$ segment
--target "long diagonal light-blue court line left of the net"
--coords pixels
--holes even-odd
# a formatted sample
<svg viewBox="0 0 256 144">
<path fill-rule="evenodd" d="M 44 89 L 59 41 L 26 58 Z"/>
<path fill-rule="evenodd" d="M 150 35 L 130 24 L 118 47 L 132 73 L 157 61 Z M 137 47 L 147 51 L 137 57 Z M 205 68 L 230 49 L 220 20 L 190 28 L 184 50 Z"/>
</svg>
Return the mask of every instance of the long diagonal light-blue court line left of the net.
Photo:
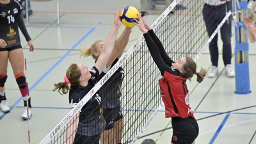
<svg viewBox="0 0 256 144">
<path fill-rule="evenodd" d="M 90 35 L 90 33 L 92 33 L 92 31 L 94 31 L 95 28 L 92 28 L 88 33 L 86 33 L 86 35 L 83 36 L 83 38 L 81 38 L 71 49 L 75 49 L 77 47 L 77 45 L 79 45 L 81 42 L 83 42 L 84 38 L 86 38 L 88 35 Z M 45 74 L 40 77 L 40 79 L 38 79 L 38 81 L 36 81 L 35 84 L 33 84 L 30 88 L 29 88 L 29 92 L 31 92 L 31 90 L 33 90 L 35 88 L 35 86 L 37 84 L 39 84 L 57 65 L 60 64 L 61 61 L 64 60 L 64 58 L 66 58 L 68 56 L 68 54 L 70 54 L 71 51 L 67 51 L 66 54 L 64 54 L 64 56 L 62 56 L 60 58 L 60 60 L 58 60 L 49 70 L 47 70 L 47 72 L 45 72 Z M 22 100 L 22 97 L 20 97 L 10 108 L 12 111 L 12 108 L 14 108 L 15 106 L 17 106 L 17 104 L 19 104 L 20 100 Z M 0 120 L 2 118 L 4 118 L 4 116 L 6 116 L 8 113 L 3 113 L 3 115 L 0 116 Z"/>
</svg>

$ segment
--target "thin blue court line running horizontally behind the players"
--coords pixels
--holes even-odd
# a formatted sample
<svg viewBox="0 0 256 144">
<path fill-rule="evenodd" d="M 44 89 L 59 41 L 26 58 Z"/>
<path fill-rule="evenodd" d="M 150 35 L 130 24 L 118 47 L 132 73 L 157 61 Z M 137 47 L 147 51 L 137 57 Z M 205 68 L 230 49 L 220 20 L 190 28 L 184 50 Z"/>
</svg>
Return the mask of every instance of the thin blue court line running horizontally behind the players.
<svg viewBox="0 0 256 144">
<path fill-rule="evenodd" d="M 24 108 L 24 106 L 16 106 L 16 108 Z M 42 106 L 33 106 L 33 109 L 70 109 L 64 107 L 42 107 Z M 133 110 L 133 109 L 123 109 L 123 111 L 141 111 L 141 110 Z M 152 111 L 152 110 L 145 110 L 145 111 Z M 165 112 L 160 110 L 159 112 Z M 212 111 L 194 111 L 194 113 L 221 113 L 221 112 L 212 112 Z M 256 115 L 256 113 L 232 113 L 235 115 Z"/>
</svg>

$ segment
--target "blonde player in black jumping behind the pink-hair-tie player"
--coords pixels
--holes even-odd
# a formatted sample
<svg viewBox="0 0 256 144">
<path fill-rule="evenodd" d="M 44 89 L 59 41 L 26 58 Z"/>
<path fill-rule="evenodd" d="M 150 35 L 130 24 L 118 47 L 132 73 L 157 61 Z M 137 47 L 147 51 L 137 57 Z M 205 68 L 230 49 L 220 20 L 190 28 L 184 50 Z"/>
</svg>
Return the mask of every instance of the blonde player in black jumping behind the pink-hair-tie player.
<svg viewBox="0 0 256 144">
<path fill-rule="evenodd" d="M 122 56 L 124 49 L 128 44 L 130 33 L 131 28 L 126 27 L 122 35 L 120 35 L 118 40 L 116 40 L 112 54 L 108 60 L 108 63 L 106 64 L 106 67 L 100 74 L 98 81 L 100 81 L 100 79 L 106 75 L 106 73 Z M 97 61 L 101 54 L 103 45 L 103 41 L 97 40 L 90 46 L 90 48 L 82 49 L 80 56 L 86 57 L 92 55 L 92 57 Z M 99 90 L 100 96 L 102 97 L 103 116 L 107 122 L 107 126 L 100 136 L 100 140 L 103 141 L 104 144 L 121 143 L 124 127 L 120 100 L 120 97 L 122 96 L 121 86 L 123 79 L 124 70 L 122 67 L 119 67 L 118 70 L 116 70 L 116 72 L 111 77 L 109 77 L 108 81 L 106 81 L 106 83 L 104 83 Z"/>
</svg>

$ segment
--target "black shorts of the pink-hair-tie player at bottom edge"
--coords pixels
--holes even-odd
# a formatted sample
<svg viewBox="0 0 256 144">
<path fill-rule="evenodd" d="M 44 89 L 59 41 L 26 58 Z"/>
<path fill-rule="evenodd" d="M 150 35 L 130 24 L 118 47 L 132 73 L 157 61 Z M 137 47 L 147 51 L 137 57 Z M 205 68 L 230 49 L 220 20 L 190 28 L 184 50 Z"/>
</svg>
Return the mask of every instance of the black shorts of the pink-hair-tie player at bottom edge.
<svg viewBox="0 0 256 144">
<path fill-rule="evenodd" d="M 81 134 L 76 134 L 74 139 L 74 144 L 99 144 L 100 135 L 96 136 L 83 136 Z"/>
</svg>

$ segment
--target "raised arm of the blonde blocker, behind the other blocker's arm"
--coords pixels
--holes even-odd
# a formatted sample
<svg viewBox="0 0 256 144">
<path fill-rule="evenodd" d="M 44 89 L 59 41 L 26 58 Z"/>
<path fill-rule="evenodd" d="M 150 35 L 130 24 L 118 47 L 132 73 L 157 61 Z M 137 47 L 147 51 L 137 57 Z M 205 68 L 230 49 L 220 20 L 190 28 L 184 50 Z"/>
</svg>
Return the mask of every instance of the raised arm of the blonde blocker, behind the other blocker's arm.
<svg viewBox="0 0 256 144">
<path fill-rule="evenodd" d="M 111 53 L 111 56 L 109 57 L 106 67 L 109 67 L 110 65 L 112 65 L 112 63 L 116 60 L 116 58 L 120 58 L 120 56 L 122 56 L 122 53 L 124 52 L 124 49 L 128 43 L 130 33 L 131 33 L 131 28 L 126 27 L 122 35 L 120 35 L 120 37 L 116 40 L 115 47 Z"/>
</svg>

